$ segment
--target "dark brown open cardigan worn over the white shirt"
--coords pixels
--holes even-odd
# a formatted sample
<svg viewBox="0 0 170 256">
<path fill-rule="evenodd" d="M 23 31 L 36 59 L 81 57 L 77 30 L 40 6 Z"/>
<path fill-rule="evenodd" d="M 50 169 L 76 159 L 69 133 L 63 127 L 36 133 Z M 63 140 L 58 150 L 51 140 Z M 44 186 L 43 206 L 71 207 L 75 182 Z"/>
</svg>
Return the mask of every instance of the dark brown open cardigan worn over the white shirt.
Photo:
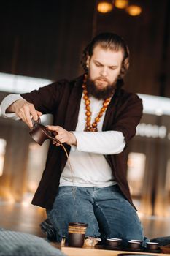
<svg viewBox="0 0 170 256">
<path fill-rule="evenodd" d="M 42 113 L 53 114 L 53 125 L 58 125 L 66 130 L 74 131 L 82 97 L 82 78 L 75 80 L 60 80 L 38 91 L 21 94 L 28 102 L 35 105 L 36 110 Z M 107 108 L 104 118 L 103 131 L 115 130 L 123 132 L 126 146 L 136 133 L 136 126 L 142 117 L 142 99 L 136 94 L 123 89 L 116 89 Z M 67 151 L 70 146 L 65 145 Z M 133 205 L 126 179 L 125 152 L 104 156 L 112 168 L 113 176 L 117 181 L 123 195 Z M 63 148 L 50 143 L 47 162 L 39 187 L 36 190 L 32 203 L 44 208 L 52 208 L 58 192 L 61 172 L 66 164 L 66 155 Z"/>
</svg>

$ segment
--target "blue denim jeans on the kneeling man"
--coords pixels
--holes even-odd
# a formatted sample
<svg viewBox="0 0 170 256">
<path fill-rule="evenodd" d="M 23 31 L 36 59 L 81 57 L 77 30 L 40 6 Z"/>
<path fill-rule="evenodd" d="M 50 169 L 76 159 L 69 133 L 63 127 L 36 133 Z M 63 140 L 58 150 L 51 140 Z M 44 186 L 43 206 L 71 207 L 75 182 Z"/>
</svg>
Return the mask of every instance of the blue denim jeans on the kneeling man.
<svg viewBox="0 0 170 256">
<path fill-rule="evenodd" d="M 139 217 L 117 185 L 59 187 L 47 217 L 56 230 L 56 241 L 67 238 L 69 222 L 88 223 L 86 236 L 144 241 Z"/>
</svg>

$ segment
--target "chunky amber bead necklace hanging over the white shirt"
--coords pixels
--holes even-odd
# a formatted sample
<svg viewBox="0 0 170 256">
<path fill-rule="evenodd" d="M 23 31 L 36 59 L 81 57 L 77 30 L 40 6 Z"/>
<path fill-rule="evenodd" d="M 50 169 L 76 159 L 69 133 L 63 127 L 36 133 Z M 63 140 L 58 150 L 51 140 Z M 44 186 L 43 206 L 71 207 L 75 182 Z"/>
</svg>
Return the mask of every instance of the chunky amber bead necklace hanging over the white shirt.
<svg viewBox="0 0 170 256">
<path fill-rule="evenodd" d="M 98 132 L 97 129 L 97 125 L 98 122 L 100 121 L 101 116 L 103 116 L 104 112 L 107 110 L 107 107 L 109 105 L 109 102 L 111 100 L 112 97 L 109 97 L 107 99 L 104 100 L 103 102 L 103 106 L 101 108 L 101 110 L 98 112 L 98 115 L 96 116 L 96 118 L 94 119 L 93 123 L 91 124 L 91 111 L 90 111 L 90 99 L 88 98 L 88 91 L 86 89 L 86 80 L 87 80 L 87 75 L 85 74 L 83 83 L 82 83 L 82 89 L 83 89 L 83 99 L 85 101 L 85 132 Z"/>
</svg>

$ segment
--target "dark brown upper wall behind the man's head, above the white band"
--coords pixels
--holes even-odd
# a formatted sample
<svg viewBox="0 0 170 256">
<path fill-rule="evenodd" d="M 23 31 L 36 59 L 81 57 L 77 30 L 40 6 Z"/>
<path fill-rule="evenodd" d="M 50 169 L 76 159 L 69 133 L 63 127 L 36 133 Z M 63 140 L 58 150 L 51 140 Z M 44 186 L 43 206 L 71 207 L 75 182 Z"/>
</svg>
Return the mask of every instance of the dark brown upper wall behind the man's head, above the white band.
<svg viewBox="0 0 170 256">
<path fill-rule="evenodd" d="M 132 0 L 130 0 L 131 2 Z M 131 51 L 125 87 L 169 97 L 169 0 L 136 1 L 142 14 L 96 12 L 96 0 L 5 1 L 0 9 L 0 72 L 56 80 L 80 75 L 82 49 L 112 31 Z"/>
</svg>

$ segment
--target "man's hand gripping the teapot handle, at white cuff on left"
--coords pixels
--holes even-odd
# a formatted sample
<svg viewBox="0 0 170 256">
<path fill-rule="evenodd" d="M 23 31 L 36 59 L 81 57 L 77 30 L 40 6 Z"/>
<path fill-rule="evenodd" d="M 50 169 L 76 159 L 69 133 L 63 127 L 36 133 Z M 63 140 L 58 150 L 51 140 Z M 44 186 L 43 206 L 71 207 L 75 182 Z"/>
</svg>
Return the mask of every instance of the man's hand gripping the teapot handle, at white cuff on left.
<svg viewBox="0 0 170 256">
<path fill-rule="evenodd" d="M 6 112 L 15 112 L 30 128 L 33 126 L 31 119 L 38 120 L 39 116 L 42 116 L 42 112 L 37 111 L 34 104 L 27 102 L 26 99 L 16 100 L 7 108 Z"/>
</svg>

